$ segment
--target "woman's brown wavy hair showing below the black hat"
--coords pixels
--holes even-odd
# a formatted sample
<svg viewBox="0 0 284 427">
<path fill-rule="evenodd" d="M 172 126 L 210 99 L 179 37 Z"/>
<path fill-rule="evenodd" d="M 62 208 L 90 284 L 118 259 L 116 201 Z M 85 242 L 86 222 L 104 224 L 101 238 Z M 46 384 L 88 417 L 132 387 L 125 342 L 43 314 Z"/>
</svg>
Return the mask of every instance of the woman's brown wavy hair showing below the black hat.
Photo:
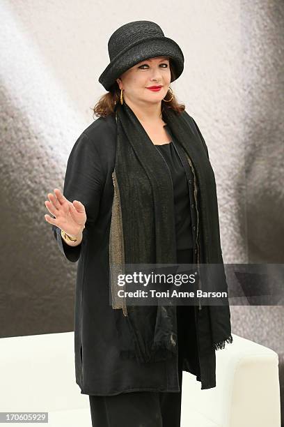
<svg viewBox="0 0 284 427">
<path fill-rule="evenodd" d="M 171 75 L 175 77 L 175 70 L 173 68 L 173 64 L 171 63 L 171 59 L 169 60 Z M 170 90 L 166 93 L 165 98 L 171 99 L 172 93 Z M 93 110 L 93 117 L 107 117 L 109 114 L 114 114 L 116 111 L 116 104 L 120 103 L 120 89 L 118 86 L 118 82 L 114 82 L 111 86 L 109 92 L 104 93 L 97 101 L 95 106 L 91 108 Z M 185 105 L 178 103 L 178 100 L 175 98 L 175 94 L 173 93 L 173 99 L 166 103 L 164 100 L 161 101 L 161 110 L 164 108 L 171 108 L 178 113 L 181 113 L 185 110 Z M 94 117 L 94 119 L 95 119 Z"/>
</svg>

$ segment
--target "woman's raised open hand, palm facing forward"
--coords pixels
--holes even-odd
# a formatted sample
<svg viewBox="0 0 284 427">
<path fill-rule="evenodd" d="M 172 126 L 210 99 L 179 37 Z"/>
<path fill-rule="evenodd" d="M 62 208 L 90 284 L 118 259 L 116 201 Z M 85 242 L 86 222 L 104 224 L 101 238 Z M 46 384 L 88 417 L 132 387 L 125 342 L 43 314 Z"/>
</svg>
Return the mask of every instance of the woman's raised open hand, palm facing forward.
<svg viewBox="0 0 284 427">
<path fill-rule="evenodd" d="M 48 193 L 47 197 L 49 201 L 45 201 L 45 207 L 55 216 L 52 218 L 45 214 L 47 223 L 56 225 L 70 237 L 79 237 L 87 219 L 84 204 L 78 200 L 70 202 L 58 188 L 54 188 L 54 194 Z"/>
</svg>

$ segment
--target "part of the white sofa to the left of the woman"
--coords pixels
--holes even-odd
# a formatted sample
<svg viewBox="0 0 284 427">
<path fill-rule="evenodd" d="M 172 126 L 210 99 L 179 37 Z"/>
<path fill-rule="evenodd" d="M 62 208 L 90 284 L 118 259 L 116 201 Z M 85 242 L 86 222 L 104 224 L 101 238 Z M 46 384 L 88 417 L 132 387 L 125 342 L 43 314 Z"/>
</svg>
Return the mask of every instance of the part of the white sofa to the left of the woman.
<svg viewBox="0 0 284 427">
<path fill-rule="evenodd" d="M 92 426 L 75 381 L 74 332 L 1 338 L 0 378 L 1 412 L 48 412 L 51 427 Z"/>
</svg>

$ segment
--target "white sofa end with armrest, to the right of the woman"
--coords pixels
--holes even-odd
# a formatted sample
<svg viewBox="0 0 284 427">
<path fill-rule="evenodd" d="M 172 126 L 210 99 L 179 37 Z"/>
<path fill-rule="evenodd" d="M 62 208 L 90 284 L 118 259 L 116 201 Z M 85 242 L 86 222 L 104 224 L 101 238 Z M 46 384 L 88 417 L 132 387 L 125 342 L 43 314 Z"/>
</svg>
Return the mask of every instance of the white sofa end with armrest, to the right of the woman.
<svg viewBox="0 0 284 427">
<path fill-rule="evenodd" d="M 281 426 L 278 354 L 235 334 L 232 338 L 216 351 L 216 387 L 201 390 L 194 375 L 183 373 L 182 427 Z M 206 421 L 195 422 L 196 412 Z"/>
</svg>

